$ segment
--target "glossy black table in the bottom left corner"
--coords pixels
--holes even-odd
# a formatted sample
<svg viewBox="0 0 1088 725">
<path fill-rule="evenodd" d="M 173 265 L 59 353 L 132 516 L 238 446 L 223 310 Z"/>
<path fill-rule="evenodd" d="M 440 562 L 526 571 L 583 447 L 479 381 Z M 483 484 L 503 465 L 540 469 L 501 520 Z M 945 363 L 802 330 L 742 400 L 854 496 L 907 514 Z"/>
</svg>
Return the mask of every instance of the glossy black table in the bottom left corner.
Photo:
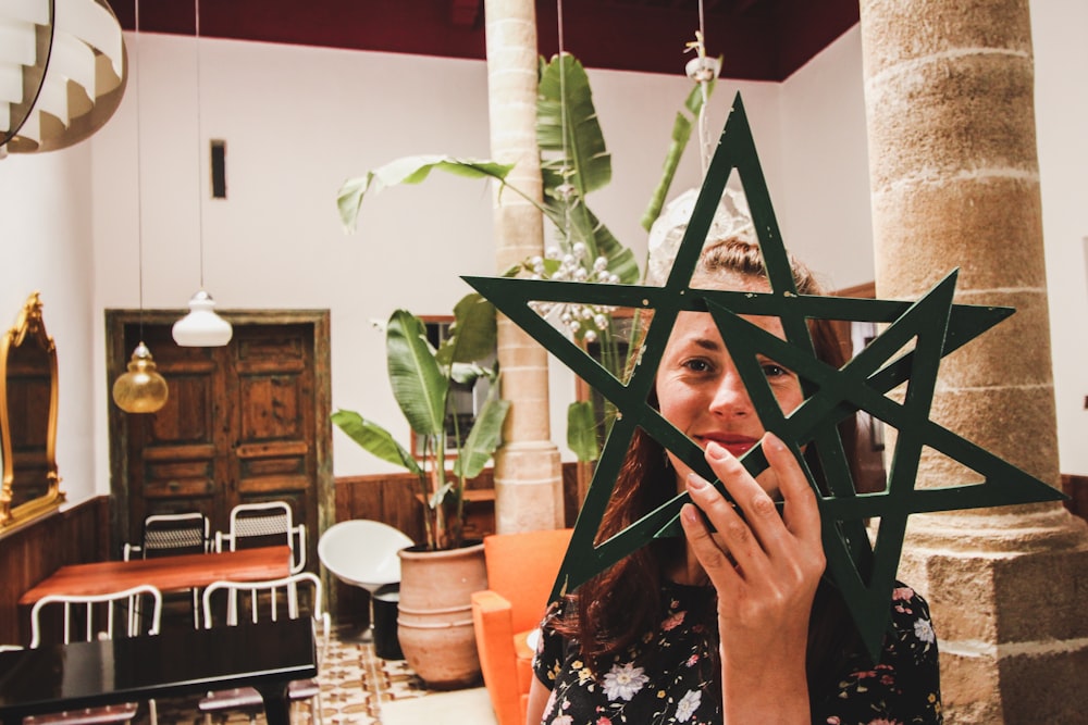
<svg viewBox="0 0 1088 725">
<path fill-rule="evenodd" d="M 0 720 L 252 687 L 269 725 L 288 725 L 287 683 L 317 662 L 309 617 L 0 652 Z"/>
</svg>

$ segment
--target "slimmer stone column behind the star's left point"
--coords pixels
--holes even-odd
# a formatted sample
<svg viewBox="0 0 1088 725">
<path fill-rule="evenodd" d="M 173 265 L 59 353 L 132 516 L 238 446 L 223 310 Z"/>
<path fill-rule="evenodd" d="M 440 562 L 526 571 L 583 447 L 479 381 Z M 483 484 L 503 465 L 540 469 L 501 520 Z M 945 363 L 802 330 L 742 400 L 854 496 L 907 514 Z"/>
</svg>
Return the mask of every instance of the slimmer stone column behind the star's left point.
<svg viewBox="0 0 1088 725">
<path fill-rule="evenodd" d="M 541 199 L 536 147 L 536 15 L 532 0 L 486 0 L 492 158 L 516 163 L 512 186 Z M 499 271 L 544 251 L 544 220 L 517 193 L 495 197 Z M 551 439 L 547 353 L 504 316 L 498 321 L 503 397 L 511 402 L 495 457 L 495 523 L 500 533 L 562 526 L 562 470 Z"/>
</svg>

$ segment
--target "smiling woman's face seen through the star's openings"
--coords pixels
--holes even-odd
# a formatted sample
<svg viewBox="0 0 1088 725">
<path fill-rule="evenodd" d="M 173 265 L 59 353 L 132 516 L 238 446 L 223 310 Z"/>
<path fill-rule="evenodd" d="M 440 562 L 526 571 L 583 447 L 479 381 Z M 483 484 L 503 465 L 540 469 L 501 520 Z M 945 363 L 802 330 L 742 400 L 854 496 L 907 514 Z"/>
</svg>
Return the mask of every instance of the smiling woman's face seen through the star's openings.
<svg viewBox="0 0 1088 725">
<path fill-rule="evenodd" d="M 769 289 L 761 278 L 731 275 L 727 282 L 715 287 Z M 786 337 L 778 317 L 741 316 L 771 335 Z M 804 399 L 798 376 L 764 355 L 757 359 L 778 404 L 784 413 L 792 412 Z M 714 440 L 739 458 L 763 437 L 759 416 L 709 313 L 681 312 L 677 317 L 657 370 L 656 389 L 662 415 L 700 448 L 705 449 Z M 668 457 L 677 472 L 678 490 L 682 491 L 691 468 L 671 452 Z M 770 470 L 757 480 L 772 495 L 778 490 Z"/>
</svg>

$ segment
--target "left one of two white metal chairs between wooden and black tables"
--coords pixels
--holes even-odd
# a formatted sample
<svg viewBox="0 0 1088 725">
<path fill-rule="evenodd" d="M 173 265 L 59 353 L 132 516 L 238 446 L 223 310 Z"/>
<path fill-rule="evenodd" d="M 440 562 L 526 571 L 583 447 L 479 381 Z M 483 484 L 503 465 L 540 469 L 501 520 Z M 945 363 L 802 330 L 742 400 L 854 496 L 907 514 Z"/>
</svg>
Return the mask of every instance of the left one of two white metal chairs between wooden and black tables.
<svg viewBox="0 0 1088 725">
<path fill-rule="evenodd" d="M 151 607 L 146 605 L 147 601 Z M 61 610 L 61 641 L 113 639 L 119 636 L 136 637 L 140 634 L 159 634 L 162 616 L 162 593 L 149 584 L 107 595 L 47 595 L 30 610 L 30 648 L 41 645 L 46 629 L 46 611 Z M 104 610 L 104 615 L 102 610 Z M 150 611 L 150 613 L 148 613 Z M 120 622 L 119 622 L 120 620 Z M 122 629 L 123 627 L 123 629 Z M 139 705 L 128 702 L 120 705 L 85 708 L 48 715 L 33 715 L 23 720 L 24 725 L 63 724 L 91 725 L 94 723 L 127 723 L 136 716 Z M 154 700 L 148 700 L 151 725 L 158 723 Z"/>
</svg>

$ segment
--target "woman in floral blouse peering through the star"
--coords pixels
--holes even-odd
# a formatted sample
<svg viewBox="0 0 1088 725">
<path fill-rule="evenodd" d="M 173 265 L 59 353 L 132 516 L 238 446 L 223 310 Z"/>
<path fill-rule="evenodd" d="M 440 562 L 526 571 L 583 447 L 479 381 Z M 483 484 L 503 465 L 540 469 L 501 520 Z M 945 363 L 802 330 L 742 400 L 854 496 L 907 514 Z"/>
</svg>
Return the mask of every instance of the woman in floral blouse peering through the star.
<svg viewBox="0 0 1088 725">
<path fill-rule="evenodd" d="M 819 293 L 796 263 L 794 280 L 801 293 Z M 769 291 L 758 247 L 735 237 L 704 249 L 692 286 Z M 777 317 L 745 318 L 784 337 Z M 829 328 L 812 327 L 820 359 L 841 365 Z M 766 358 L 761 364 L 782 410 L 792 411 L 803 400 L 798 376 Z M 655 395 L 662 414 L 703 448 L 743 517 L 636 434 L 598 538 L 688 491 L 684 537 L 640 549 L 549 608 L 528 725 L 942 722 L 925 601 L 897 587 L 892 632 L 880 662 L 869 662 L 821 578 L 816 497 L 789 449 L 763 429 L 708 313 L 678 317 Z M 753 478 L 737 459 L 761 440 L 770 466 Z"/>
</svg>

